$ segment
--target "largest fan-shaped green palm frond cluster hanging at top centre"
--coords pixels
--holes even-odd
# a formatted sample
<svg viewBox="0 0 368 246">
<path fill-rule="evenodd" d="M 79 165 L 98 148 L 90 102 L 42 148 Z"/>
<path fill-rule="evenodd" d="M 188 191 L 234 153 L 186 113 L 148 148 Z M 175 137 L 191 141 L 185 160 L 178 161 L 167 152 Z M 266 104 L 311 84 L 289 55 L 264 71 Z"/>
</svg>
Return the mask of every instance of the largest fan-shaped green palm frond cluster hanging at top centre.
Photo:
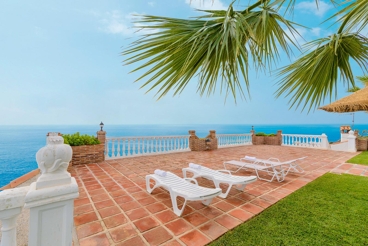
<svg viewBox="0 0 368 246">
<path fill-rule="evenodd" d="M 146 79 L 142 87 L 157 89 L 158 98 L 182 92 L 194 76 L 201 95 L 214 93 L 220 80 L 221 92 L 235 100 L 237 92 L 245 97 L 251 61 L 264 68 L 278 59 L 279 47 L 291 52 L 292 37 L 282 25 L 297 35 L 295 24 L 267 6 L 246 14 L 232 5 L 227 11 L 205 12 L 190 20 L 144 15 L 138 28 L 157 32 L 143 35 L 122 52 L 126 65 L 139 64 L 132 72 L 147 70 L 136 81 Z"/>
</svg>

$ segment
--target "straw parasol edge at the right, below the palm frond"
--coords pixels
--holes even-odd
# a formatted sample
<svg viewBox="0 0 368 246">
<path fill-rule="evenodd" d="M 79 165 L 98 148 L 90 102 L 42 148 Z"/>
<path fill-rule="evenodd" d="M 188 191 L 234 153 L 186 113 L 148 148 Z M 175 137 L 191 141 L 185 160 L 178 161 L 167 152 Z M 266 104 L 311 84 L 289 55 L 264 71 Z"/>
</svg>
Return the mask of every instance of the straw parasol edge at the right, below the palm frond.
<svg viewBox="0 0 368 246">
<path fill-rule="evenodd" d="M 335 113 L 368 111 L 368 86 L 319 109 Z"/>
</svg>

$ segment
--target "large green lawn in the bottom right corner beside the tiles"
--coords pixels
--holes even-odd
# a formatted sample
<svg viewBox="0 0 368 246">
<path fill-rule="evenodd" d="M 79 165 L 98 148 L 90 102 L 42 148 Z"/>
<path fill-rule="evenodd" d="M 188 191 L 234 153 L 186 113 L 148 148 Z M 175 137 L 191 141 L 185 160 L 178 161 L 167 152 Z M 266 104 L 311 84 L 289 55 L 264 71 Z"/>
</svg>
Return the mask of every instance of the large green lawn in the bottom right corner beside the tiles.
<svg viewBox="0 0 368 246">
<path fill-rule="evenodd" d="M 327 173 L 210 245 L 368 245 L 368 178 Z"/>
</svg>

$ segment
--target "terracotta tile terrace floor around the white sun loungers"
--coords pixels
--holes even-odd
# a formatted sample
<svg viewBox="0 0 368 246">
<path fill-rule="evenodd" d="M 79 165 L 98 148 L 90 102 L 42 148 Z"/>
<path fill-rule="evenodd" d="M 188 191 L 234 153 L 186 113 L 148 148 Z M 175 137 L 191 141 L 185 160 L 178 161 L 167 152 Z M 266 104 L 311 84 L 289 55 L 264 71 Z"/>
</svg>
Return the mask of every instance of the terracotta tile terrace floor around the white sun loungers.
<svg viewBox="0 0 368 246">
<path fill-rule="evenodd" d="M 75 200 L 78 240 L 74 245 L 205 245 L 326 172 L 368 176 L 367 166 L 345 163 L 356 154 L 258 145 L 74 166 L 71 173 L 80 191 Z M 190 162 L 223 169 L 224 161 L 245 155 L 277 157 L 281 161 L 308 157 L 300 164 L 303 174 L 289 173 L 281 183 L 258 180 L 244 192 L 232 189 L 227 199 L 215 198 L 209 206 L 200 201 L 188 202 L 181 217 L 172 212 L 168 192 L 146 192 L 145 176 L 155 169 L 182 177 L 181 169 Z M 238 174 L 252 173 L 241 170 Z M 205 179 L 199 179 L 199 184 L 213 187 Z"/>
</svg>

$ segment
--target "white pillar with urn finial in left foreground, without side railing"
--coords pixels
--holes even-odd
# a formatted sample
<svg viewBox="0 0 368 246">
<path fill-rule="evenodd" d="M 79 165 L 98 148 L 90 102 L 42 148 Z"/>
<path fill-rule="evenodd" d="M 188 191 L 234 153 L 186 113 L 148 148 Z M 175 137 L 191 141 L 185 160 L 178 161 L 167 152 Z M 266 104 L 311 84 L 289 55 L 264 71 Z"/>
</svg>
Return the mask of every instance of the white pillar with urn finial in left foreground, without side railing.
<svg viewBox="0 0 368 246">
<path fill-rule="evenodd" d="M 41 175 L 25 197 L 30 209 L 29 246 L 72 245 L 74 199 L 79 196 L 75 178 L 67 172 L 72 149 L 57 133 L 36 154 Z"/>
</svg>

